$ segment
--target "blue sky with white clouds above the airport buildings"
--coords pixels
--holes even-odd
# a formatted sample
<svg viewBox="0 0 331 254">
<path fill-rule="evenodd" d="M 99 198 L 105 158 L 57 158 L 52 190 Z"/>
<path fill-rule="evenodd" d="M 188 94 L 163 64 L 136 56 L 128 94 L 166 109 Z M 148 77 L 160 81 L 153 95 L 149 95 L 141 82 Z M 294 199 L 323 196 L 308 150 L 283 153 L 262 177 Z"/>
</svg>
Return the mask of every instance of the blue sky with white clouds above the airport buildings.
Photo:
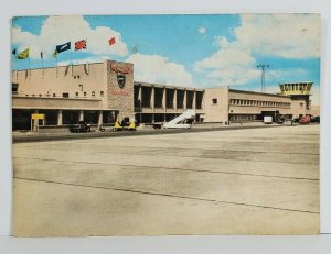
<svg viewBox="0 0 331 254">
<path fill-rule="evenodd" d="M 109 38 L 115 37 L 111 46 Z M 87 41 L 85 51 L 74 43 Z M 55 46 L 72 49 L 52 56 Z M 19 53 L 30 48 L 28 59 Z M 281 82 L 313 81 L 320 93 L 320 15 L 74 15 L 12 20 L 12 69 L 124 60 L 135 64 L 135 80 L 184 87 L 279 92 Z M 43 60 L 41 58 L 43 52 Z"/>
</svg>

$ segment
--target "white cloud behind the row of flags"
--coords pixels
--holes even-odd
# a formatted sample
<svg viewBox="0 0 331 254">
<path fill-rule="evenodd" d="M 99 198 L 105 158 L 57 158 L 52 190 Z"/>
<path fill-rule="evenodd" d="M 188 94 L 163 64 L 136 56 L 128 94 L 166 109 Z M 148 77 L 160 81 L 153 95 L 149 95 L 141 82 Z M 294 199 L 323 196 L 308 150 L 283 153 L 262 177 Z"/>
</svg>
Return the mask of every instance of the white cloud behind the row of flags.
<svg viewBox="0 0 331 254">
<path fill-rule="evenodd" d="M 108 40 L 115 37 L 116 43 L 111 46 Z M 106 26 L 90 29 L 88 22 L 83 16 L 50 16 L 42 25 L 40 35 L 34 35 L 22 31 L 20 27 L 12 29 L 12 43 L 19 45 L 19 52 L 30 47 L 31 58 L 40 58 L 40 52 L 43 51 L 44 58 L 52 57 L 55 45 L 83 38 L 87 40 L 87 49 L 85 52 L 100 55 L 128 55 L 127 46 L 120 40 L 120 33 Z"/>
</svg>

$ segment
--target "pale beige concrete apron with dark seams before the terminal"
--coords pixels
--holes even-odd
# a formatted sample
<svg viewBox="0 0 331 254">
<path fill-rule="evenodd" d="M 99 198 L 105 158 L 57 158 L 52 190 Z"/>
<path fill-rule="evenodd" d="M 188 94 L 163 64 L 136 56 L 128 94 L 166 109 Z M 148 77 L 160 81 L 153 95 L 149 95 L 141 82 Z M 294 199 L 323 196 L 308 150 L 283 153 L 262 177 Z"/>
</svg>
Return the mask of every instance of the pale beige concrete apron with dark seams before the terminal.
<svg viewBox="0 0 331 254">
<path fill-rule="evenodd" d="M 14 234 L 313 234 L 319 125 L 14 143 Z"/>
</svg>

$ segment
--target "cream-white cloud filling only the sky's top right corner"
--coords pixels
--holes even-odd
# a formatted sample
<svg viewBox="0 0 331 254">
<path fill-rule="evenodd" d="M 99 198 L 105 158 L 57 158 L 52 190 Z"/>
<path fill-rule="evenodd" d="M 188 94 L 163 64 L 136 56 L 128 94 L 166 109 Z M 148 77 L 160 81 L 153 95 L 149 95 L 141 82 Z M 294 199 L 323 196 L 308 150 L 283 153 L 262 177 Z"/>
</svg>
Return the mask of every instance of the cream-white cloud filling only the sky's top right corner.
<svg viewBox="0 0 331 254">
<path fill-rule="evenodd" d="M 243 14 L 236 40 L 253 52 L 285 58 L 320 56 L 317 14 Z"/>
</svg>

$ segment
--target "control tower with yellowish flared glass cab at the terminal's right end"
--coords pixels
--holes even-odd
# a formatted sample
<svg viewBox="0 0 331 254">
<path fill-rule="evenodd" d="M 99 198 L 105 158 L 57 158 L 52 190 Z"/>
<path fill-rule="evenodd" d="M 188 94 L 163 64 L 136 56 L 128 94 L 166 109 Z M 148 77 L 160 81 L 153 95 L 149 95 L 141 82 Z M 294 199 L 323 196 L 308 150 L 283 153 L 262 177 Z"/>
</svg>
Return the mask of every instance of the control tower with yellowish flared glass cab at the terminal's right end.
<svg viewBox="0 0 331 254">
<path fill-rule="evenodd" d="M 291 111 L 293 118 L 311 114 L 311 87 L 313 82 L 285 82 L 280 84 L 280 95 L 291 97 Z"/>
</svg>

